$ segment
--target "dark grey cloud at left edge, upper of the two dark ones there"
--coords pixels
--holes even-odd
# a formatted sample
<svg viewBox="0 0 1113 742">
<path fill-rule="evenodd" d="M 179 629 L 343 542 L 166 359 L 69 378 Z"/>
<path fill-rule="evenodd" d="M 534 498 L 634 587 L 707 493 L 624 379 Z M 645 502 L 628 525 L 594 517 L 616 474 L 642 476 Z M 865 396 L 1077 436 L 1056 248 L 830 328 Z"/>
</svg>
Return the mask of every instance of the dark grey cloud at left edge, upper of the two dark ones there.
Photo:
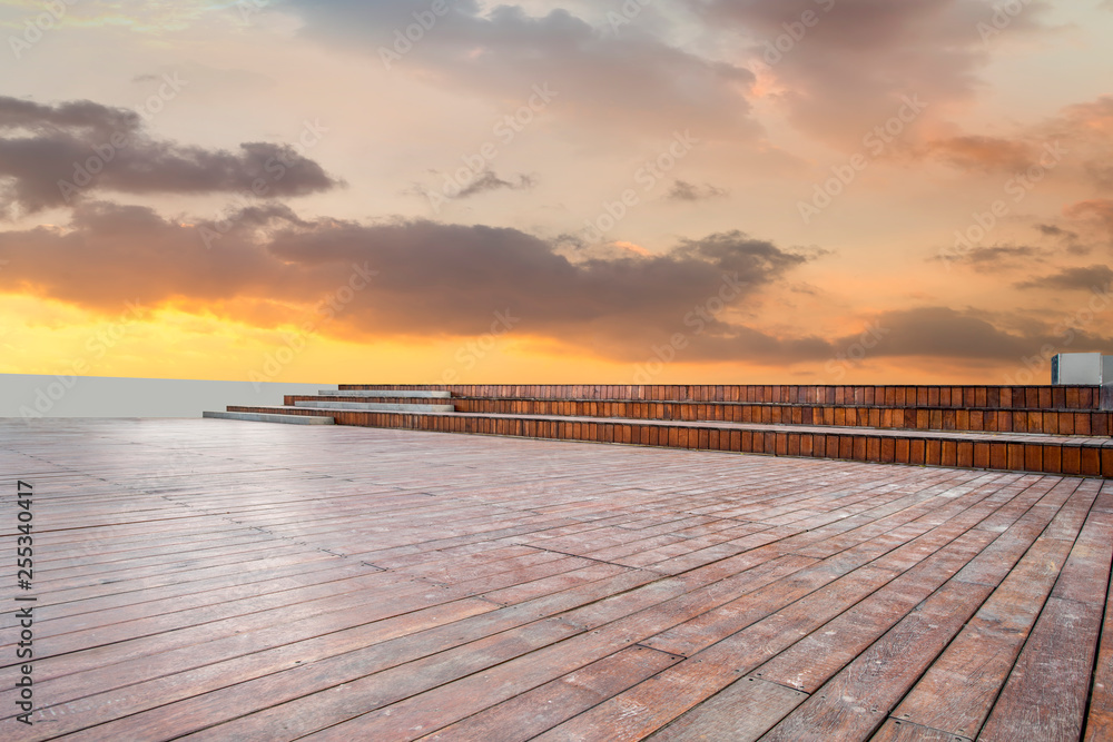
<svg viewBox="0 0 1113 742">
<path fill-rule="evenodd" d="M 246 142 L 237 152 L 210 150 L 151 138 L 132 110 L 0 97 L 0 195 L 35 212 L 100 191 L 292 197 L 337 187 L 304 157 L 311 139 L 297 147 Z"/>
</svg>

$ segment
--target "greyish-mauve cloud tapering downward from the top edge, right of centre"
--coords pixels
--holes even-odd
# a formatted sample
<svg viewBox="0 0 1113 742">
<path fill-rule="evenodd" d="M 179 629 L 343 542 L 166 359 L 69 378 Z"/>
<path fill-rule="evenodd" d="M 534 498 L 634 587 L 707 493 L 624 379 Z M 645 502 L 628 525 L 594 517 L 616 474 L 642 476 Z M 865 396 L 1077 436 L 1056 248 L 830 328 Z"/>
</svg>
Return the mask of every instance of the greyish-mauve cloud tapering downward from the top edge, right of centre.
<svg viewBox="0 0 1113 742">
<path fill-rule="evenodd" d="M 925 101 L 927 118 L 965 105 L 989 60 L 976 29 L 993 16 L 983 0 L 687 3 L 709 29 L 749 43 L 751 58 L 777 81 L 769 95 L 784 103 L 796 127 L 841 147 L 860 147 L 868 131 L 896 115 L 903 96 Z M 1047 7 L 1025 3 L 1007 32 L 1041 28 L 1037 20 Z"/>
</svg>

